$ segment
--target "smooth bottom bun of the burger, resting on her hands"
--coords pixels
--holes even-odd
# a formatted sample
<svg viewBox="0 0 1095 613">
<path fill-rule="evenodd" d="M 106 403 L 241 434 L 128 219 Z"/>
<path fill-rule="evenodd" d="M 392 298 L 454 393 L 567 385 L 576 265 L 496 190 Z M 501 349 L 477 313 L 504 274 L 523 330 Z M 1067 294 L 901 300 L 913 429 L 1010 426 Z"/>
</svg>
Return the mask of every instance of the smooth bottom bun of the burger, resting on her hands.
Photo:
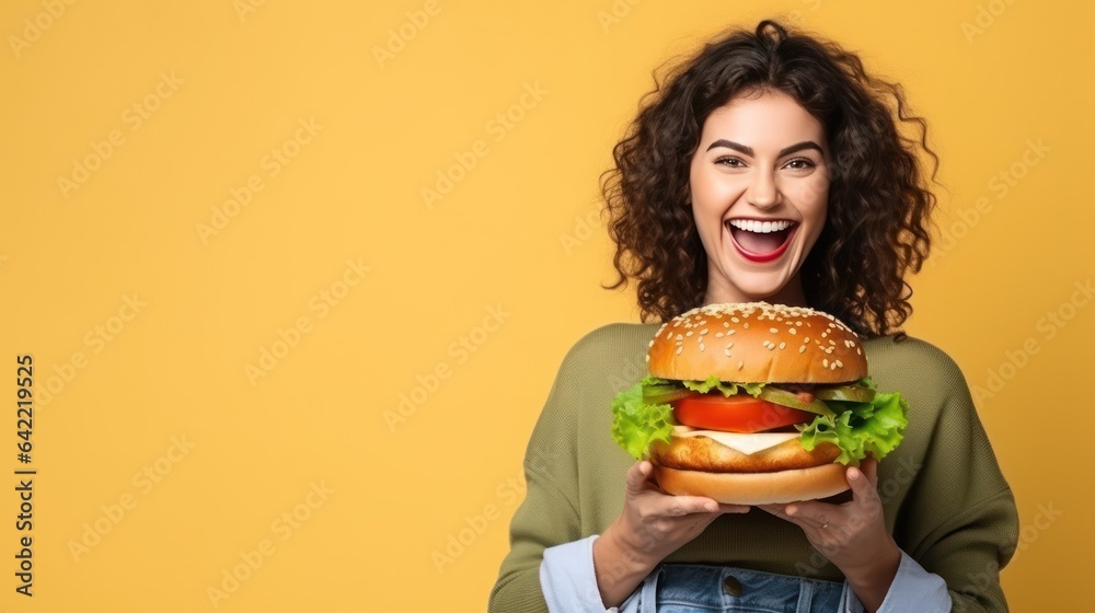
<svg viewBox="0 0 1095 613">
<path fill-rule="evenodd" d="M 849 489 L 843 464 L 774 473 L 704 473 L 655 464 L 661 489 L 675 496 L 706 496 L 729 505 L 772 505 L 828 498 Z"/>
</svg>

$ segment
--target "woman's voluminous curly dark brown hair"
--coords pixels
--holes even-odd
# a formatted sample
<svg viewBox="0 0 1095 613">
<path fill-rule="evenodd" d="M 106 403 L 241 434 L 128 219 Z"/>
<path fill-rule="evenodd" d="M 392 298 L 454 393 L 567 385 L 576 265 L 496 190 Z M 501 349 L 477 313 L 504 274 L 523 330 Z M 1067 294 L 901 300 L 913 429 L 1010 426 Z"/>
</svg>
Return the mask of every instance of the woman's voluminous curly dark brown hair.
<svg viewBox="0 0 1095 613">
<path fill-rule="evenodd" d="M 779 91 L 821 123 L 833 153 L 825 228 L 800 271 L 808 304 L 867 337 L 904 337 L 899 326 L 912 313 L 912 288 L 903 277 L 927 257 L 935 206 L 918 153 L 932 159 L 931 181 L 938 158 L 901 85 L 867 74 L 835 43 L 772 20 L 724 34 L 660 84 L 654 80 L 612 150 L 615 167 L 601 175 L 619 273 L 603 287 L 637 281 L 644 322 L 702 304 L 707 259 L 688 193 L 703 124 L 736 95 Z M 913 124 L 917 138 L 901 135 L 898 122 Z"/>
</svg>

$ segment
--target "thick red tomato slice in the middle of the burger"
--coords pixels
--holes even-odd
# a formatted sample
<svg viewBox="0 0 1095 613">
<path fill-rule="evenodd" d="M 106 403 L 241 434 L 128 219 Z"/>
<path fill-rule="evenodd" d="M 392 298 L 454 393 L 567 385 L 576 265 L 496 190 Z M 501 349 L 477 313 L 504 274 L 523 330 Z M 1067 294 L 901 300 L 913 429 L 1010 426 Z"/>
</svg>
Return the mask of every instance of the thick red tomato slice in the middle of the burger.
<svg viewBox="0 0 1095 613">
<path fill-rule="evenodd" d="M 673 416 L 685 426 L 727 432 L 760 432 L 812 421 L 816 415 L 748 394 L 698 394 L 676 400 Z"/>
</svg>

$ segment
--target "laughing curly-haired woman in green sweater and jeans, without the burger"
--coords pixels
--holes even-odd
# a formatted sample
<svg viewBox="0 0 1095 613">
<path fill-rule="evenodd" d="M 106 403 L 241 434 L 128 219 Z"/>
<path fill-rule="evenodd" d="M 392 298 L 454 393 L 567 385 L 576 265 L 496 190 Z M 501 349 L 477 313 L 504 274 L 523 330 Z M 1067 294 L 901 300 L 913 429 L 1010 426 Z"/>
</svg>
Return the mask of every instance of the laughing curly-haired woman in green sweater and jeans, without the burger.
<svg viewBox="0 0 1095 613">
<path fill-rule="evenodd" d="M 566 356 L 529 442 L 492 611 L 1006 610 L 1011 489 L 958 367 L 898 327 L 911 313 L 903 275 L 930 244 L 925 131 L 899 85 L 771 21 L 661 84 L 604 184 L 613 287 L 635 279 L 654 323 L 601 327 Z M 645 373 L 659 322 L 757 300 L 841 319 L 879 389 L 909 401 L 901 446 L 848 470 L 850 502 L 668 496 L 609 436 L 612 397 Z"/>
</svg>

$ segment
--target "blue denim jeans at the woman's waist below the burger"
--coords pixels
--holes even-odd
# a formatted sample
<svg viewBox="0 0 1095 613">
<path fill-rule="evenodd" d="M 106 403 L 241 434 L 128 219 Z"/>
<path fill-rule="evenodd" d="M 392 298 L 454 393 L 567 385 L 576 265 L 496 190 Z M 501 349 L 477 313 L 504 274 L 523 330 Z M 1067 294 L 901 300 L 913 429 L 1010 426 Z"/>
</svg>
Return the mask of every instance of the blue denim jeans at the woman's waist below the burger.
<svg viewBox="0 0 1095 613">
<path fill-rule="evenodd" d="M 664 564 L 639 587 L 642 613 L 835 613 L 843 583 L 725 566 Z"/>
</svg>

